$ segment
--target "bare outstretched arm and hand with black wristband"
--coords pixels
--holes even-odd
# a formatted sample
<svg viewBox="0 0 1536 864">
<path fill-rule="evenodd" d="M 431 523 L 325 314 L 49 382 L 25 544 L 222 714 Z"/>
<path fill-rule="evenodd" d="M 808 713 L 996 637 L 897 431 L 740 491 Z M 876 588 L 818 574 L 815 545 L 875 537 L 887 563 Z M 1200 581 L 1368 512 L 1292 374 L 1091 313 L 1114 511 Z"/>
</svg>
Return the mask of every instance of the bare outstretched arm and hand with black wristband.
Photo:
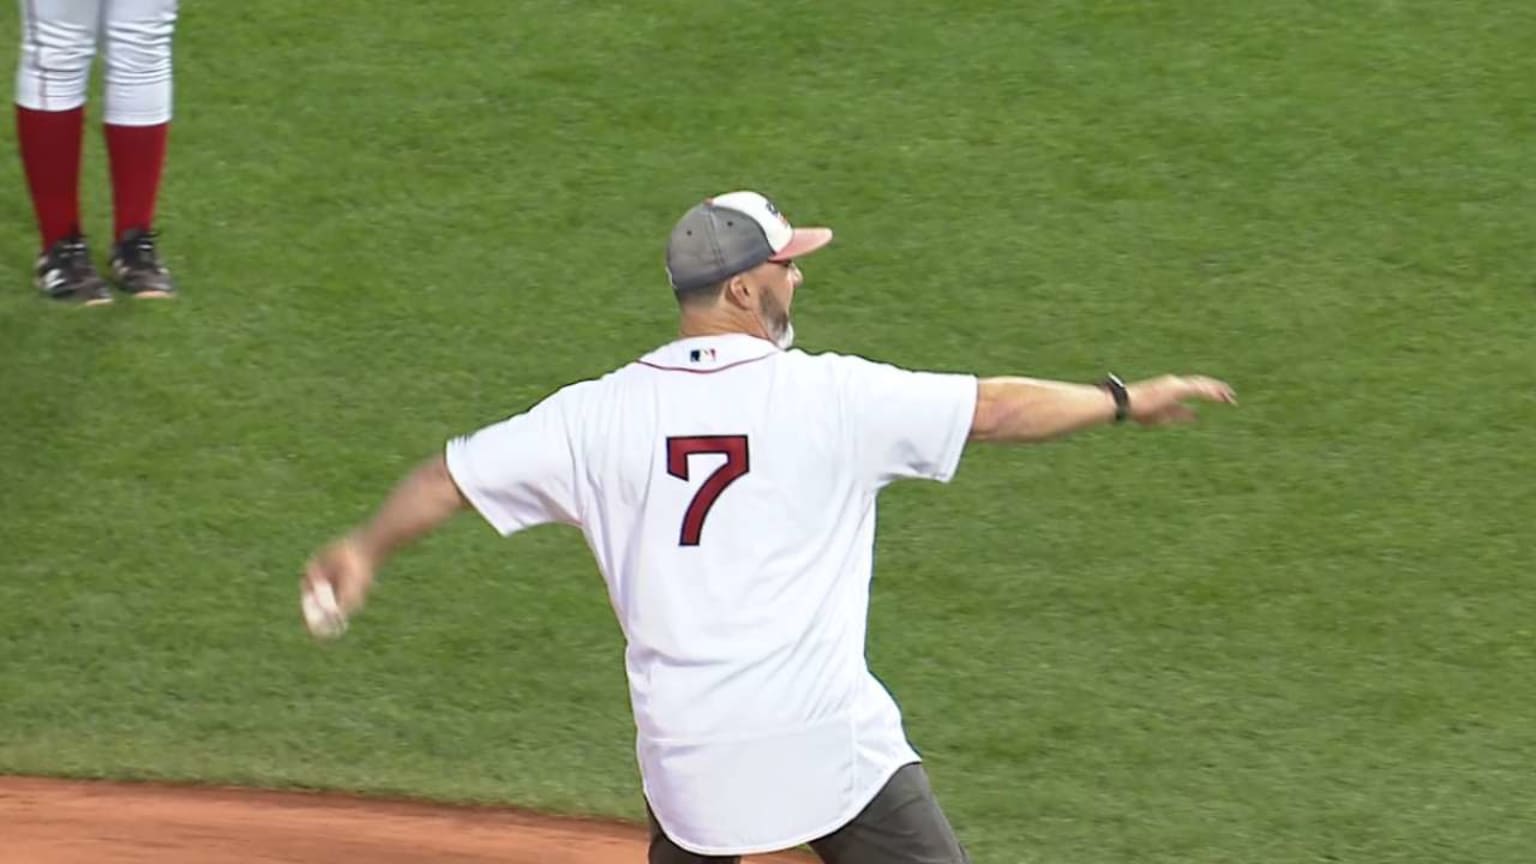
<svg viewBox="0 0 1536 864">
<path fill-rule="evenodd" d="M 1204 375 L 1163 375 L 1126 386 L 1127 417 L 1143 426 L 1187 423 L 1195 412 L 1187 403 L 1236 404 L 1232 387 Z M 971 421 L 972 441 L 1049 441 L 1115 418 L 1115 400 L 1106 387 L 1040 381 L 1035 378 L 983 378 Z"/>
</svg>

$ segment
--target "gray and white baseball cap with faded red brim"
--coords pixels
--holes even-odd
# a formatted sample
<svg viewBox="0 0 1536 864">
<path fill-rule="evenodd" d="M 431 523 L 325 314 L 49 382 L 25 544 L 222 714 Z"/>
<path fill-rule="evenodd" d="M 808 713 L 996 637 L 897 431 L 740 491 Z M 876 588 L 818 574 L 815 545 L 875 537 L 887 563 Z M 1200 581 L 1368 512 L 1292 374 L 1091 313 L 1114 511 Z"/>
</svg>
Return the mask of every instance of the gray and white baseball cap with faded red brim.
<svg viewBox="0 0 1536 864">
<path fill-rule="evenodd" d="M 677 220 L 667 240 L 667 275 L 673 291 L 691 291 L 831 241 L 833 229 L 794 228 L 757 192 L 728 192 L 705 198 Z"/>
</svg>

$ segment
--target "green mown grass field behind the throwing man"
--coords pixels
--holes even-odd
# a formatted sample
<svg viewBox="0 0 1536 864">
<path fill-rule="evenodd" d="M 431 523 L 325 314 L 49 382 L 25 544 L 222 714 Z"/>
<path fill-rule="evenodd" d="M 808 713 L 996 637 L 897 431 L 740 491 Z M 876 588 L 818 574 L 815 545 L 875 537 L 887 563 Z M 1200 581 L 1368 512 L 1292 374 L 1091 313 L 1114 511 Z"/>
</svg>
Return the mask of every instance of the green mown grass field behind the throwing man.
<svg viewBox="0 0 1536 864">
<path fill-rule="evenodd" d="M 576 532 L 467 517 L 333 646 L 296 578 L 667 341 L 746 186 L 839 231 L 811 351 L 1243 397 L 886 493 L 871 663 L 977 861 L 1530 861 L 1536 6 L 260 6 L 183 11 L 183 301 L 37 300 L 0 158 L 0 772 L 639 816 Z"/>
</svg>

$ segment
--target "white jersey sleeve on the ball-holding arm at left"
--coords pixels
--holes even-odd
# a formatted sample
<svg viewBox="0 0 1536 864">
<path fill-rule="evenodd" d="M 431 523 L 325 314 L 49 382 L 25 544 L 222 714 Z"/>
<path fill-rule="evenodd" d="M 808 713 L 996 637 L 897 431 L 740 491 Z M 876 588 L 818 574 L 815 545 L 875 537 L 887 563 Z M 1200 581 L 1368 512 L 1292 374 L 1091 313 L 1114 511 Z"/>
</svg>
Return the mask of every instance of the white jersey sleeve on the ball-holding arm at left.
<svg viewBox="0 0 1536 864">
<path fill-rule="evenodd" d="M 449 474 L 502 537 L 547 523 L 581 524 L 571 401 L 561 390 L 525 414 L 449 441 Z"/>
</svg>

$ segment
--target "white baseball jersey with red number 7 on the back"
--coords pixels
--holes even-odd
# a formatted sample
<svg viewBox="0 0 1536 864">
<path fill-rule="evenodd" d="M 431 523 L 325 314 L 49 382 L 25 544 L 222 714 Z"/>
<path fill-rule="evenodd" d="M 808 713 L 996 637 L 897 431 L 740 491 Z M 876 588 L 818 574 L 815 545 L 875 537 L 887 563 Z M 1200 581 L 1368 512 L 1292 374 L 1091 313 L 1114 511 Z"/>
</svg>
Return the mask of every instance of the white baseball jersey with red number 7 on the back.
<svg viewBox="0 0 1536 864">
<path fill-rule="evenodd" d="M 702 855 L 849 822 L 917 753 L 865 663 L 876 493 L 948 481 L 969 375 L 687 338 L 447 447 L 502 533 L 579 526 L 628 641 L 645 796 Z"/>
</svg>

